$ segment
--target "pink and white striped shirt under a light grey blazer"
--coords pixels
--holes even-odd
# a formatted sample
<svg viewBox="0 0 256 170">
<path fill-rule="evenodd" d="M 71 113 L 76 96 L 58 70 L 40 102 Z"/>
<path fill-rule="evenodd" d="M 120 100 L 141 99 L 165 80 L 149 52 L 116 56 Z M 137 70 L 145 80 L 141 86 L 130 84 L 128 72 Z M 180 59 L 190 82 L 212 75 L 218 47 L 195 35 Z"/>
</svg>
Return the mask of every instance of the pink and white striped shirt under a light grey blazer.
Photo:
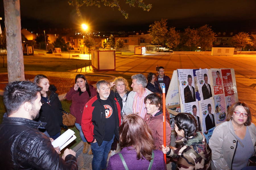
<svg viewBox="0 0 256 170">
<path fill-rule="evenodd" d="M 145 90 L 144 94 L 140 97 L 139 93 L 136 93 L 133 100 L 133 113 L 138 113 L 138 115 L 142 118 L 147 113 L 146 106 L 144 103 L 144 98 L 147 96 L 147 91 Z"/>
</svg>

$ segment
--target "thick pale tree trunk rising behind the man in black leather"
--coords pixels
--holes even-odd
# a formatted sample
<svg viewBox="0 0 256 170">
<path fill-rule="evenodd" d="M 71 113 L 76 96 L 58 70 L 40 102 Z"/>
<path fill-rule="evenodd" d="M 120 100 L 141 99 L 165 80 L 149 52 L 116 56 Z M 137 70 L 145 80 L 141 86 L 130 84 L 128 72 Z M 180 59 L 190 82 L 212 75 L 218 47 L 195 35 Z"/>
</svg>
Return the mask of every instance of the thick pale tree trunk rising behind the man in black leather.
<svg viewBox="0 0 256 170">
<path fill-rule="evenodd" d="M 24 81 L 20 1 L 4 0 L 8 81 Z"/>
</svg>

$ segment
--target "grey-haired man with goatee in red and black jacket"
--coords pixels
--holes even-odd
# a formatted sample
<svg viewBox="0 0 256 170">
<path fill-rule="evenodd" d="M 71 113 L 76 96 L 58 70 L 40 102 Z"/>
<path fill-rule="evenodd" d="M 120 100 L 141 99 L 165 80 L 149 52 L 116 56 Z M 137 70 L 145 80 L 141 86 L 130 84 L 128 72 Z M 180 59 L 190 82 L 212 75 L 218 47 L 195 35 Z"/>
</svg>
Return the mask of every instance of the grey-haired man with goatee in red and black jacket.
<svg viewBox="0 0 256 170">
<path fill-rule="evenodd" d="M 92 169 L 107 169 L 108 153 L 114 137 L 119 140 L 121 108 L 117 99 L 110 95 L 110 83 L 100 80 L 96 84 L 97 96 L 84 106 L 82 130 L 93 153 Z"/>
</svg>

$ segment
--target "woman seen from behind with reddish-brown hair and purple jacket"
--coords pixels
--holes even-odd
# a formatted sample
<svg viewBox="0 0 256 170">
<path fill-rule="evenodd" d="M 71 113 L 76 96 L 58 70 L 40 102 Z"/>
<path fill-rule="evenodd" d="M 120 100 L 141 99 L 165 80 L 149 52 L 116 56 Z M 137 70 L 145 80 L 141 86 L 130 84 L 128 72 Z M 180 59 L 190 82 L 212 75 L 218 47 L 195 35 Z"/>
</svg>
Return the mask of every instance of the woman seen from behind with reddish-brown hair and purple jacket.
<svg viewBox="0 0 256 170">
<path fill-rule="evenodd" d="M 145 121 L 131 114 L 119 129 L 121 152 L 110 157 L 108 170 L 165 170 L 164 155 L 154 146 L 154 139 Z"/>
</svg>

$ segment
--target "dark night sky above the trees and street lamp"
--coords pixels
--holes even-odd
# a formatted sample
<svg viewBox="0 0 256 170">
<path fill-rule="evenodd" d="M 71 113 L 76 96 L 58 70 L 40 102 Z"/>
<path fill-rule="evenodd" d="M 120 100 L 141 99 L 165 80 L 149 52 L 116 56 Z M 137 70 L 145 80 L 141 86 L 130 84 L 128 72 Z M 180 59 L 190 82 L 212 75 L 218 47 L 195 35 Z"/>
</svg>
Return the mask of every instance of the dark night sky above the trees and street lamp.
<svg viewBox="0 0 256 170">
<path fill-rule="evenodd" d="M 117 8 L 83 6 L 79 17 L 67 0 L 20 0 L 21 25 L 28 29 L 80 28 L 81 23 L 86 22 L 92 31 L 138 31 L 148 30 L 155 20 L 166 18 L 168 26 L 177 29 L 208 24 L 217 31 L 256 32 L 255 0 L 144 0 L 152 4 L 149 12 L 120 2 L 129 13 L 128 19 Z M 0 17 L 4 19 L 3 1 Z M 0 23 L 3 27 L 3 20 Z"/>
</svg>

